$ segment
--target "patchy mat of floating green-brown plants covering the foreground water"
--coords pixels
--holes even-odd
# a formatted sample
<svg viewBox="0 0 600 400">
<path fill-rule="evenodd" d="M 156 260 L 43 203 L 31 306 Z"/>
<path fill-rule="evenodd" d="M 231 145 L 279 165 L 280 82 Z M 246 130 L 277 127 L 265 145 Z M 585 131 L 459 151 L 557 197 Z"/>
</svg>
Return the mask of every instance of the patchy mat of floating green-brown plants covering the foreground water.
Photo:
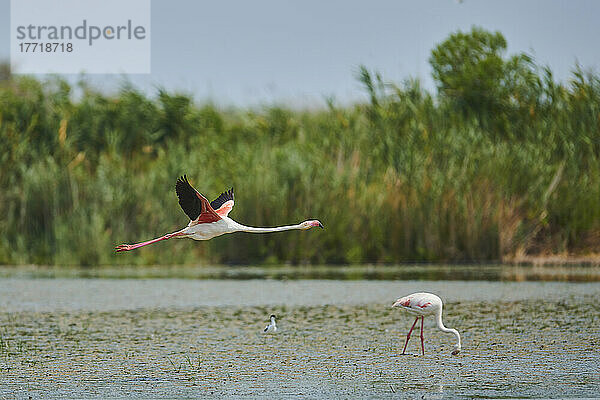
<svg viewBox="0 0 600 400">
<path fill-rule="evenodd" d="M 544 284 L 517 283 L 521 289 L 510 292 L 531 297 L 514 301 L 501 284 L 470 285 L 474 300 L 446 305 L 448 324 L 463 333 L 457 357 L 432 321 L 425 356 L 418 340 L 401 356 L 412 319 L 376 303 L 182 309 L 165 301 L 135 310 L 1 312 L 0 397 L 562 398 L 600 391 L 593 378 L 597 290 L 582 294 L 581 285 L 564 284 L 548 298 Z M 503 300 L 485 300 L 490 292 Z M 261 334 L 265 311 L 282 316 L 278 335 Z"/>
</svg>

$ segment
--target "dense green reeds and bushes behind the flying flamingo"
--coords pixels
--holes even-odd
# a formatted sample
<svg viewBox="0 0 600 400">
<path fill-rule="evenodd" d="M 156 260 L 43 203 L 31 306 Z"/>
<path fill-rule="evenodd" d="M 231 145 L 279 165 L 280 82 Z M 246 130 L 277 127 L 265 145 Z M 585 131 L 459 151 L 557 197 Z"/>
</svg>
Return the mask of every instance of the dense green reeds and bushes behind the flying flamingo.
<svg viewBox="0 0 600 400">
<path fill-rule="evenodd" d="M 435 94 L 363 68 L 365 104 L 222 110 L 0 72 L 0 263 L 485 261 L 600 251 L 600 80 L 559 83 L 500 33 L 432 52 Z M 74 95 L 77 93 L 77 95 Z M 234 219 L 326 229 L 170 240 L 186 173 Z"/>
</svg>

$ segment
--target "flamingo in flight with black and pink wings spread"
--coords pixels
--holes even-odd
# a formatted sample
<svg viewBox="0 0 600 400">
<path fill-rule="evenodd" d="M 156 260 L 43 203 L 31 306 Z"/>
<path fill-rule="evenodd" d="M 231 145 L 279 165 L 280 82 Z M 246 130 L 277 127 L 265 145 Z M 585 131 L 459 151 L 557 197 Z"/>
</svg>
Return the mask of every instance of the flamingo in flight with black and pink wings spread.
<svg viewBox="0 0 600 400">
<path fill-rule="evenodd" d="M 323 228 L 323 224 L 316 219 L 304 221 L 298 225 L 278 226 L 275 228 L 255 228 L 238 224 L 227 216 L 233 208 L 233 188 L 221 193 L 219 197 L 209 203 L 206 197 L 202 196 L 190 185 L 185 175 L 177 179 L 175 191 L 179 198 L 179 205 L 183 209 L 183 212 L 190 218 L 188 226 L 180 231 L 167 233 L 164 236 L 147 242 L 121 244 L 115 248 L 117 252 L 134 250 L 171 238 L 209 240 L 216 236 L 232 232 L 269 233 L 292 229 L 307 230 L 313 226 Z"/>
</svg>

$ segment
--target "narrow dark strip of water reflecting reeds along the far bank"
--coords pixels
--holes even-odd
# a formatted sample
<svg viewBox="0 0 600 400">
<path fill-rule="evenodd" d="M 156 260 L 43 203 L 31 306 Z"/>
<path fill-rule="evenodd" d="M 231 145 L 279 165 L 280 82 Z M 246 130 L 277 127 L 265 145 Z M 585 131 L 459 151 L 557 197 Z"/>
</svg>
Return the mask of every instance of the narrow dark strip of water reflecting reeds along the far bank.
<svg viewBox="0 0 600 400">
<path fill-rule="evenodd" d="M 518 265 L 347 265 L 347 266 L 155 266 L 64 268 L 0 266 L 1 278 L 107 278 L 107 279 L 327 279 L 426 281 L 545 281 L 600 282 L 600 266 Z"/>
</svg>

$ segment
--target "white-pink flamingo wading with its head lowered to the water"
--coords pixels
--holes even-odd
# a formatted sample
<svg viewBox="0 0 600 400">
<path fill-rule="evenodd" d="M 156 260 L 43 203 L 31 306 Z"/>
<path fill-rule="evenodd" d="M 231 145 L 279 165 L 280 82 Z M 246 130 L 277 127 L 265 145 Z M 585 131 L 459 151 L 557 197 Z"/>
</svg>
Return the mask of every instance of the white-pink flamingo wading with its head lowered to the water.
<svg viewBox="0 0 600 400">
<path fill-rule="evenodd" d="M 442 299 L 433 293 L 413 293 L 396 300 L 392 307 L 402 307 L 402 309 L 417 316 L 412 328 L 408 331 L 408 335 L 406 335 L 406 343 L 404 343 L 402 354 L 405 354 L 404 352 L 406 351 L 406 345 L 408 344 L 408 339 L 410 339 L 410 334 L 415 328 L 419 318 L 421 318 L 421 350 L 423 351 L 423 355 L 425 355 L 425 345 L 423 344 L 423 320 L 426 315 L 432 314 L 435 315 L 438 328 L 442 332 L 452 333 L 456 336 L 457 343 L 454 345 L 452 355 L 455 356 L 460 352 L 460 334 L 456 329 L 446 328 L 442 323 L 442 305 Z"/>
</svg>

